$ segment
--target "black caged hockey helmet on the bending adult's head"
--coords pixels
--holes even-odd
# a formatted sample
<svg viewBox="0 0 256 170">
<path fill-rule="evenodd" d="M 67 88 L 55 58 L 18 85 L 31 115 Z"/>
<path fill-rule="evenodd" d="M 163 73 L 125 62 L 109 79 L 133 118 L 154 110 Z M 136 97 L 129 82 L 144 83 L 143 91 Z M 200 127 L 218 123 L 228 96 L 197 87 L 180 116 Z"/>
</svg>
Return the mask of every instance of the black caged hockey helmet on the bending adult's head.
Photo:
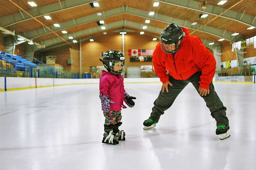
<svg viewBox="0 0 256 170">
<path fill-rule="evenodd" d="M 182 41 L 184 36 L 185 35 L 183 35 L 181 26 L 174 23 L 169 24 L 167 27 L 165 27 L 160 36 L 159 43 L 161 50 L 167 54 L 176 53 L 179 50 L 179 45 L 181 44 L 181 42 L 178 42 L 179 40 Z M 175 44 L 175 48 L 173 45 L 168 44 Z"/>
</svg>

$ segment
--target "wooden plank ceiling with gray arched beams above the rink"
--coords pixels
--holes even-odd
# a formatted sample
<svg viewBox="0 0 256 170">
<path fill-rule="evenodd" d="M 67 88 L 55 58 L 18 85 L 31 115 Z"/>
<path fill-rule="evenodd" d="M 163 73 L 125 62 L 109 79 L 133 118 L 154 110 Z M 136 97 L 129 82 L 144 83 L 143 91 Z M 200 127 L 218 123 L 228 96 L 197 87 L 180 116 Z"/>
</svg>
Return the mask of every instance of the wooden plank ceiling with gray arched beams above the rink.
<svg viewBox="0 0 256 170">
<path fill-rule="evenodd" d="M 32 0 L 30 0 L 32 1 Z M 103 32 L 132 31 L 159 37 L 169 23 L 189 28 L 190 33 L 207 42 L 221 44 L 235 42 L 256 35 L 256 29 L 247 30 L 256 23 L 256 0 L 228 0 L 217 5 L 220 0 L 34 0 L 37 7 L 31 7 L 28 0 L 1 0 L 0 26 L 16 34 L 32 39 L 46 49 L 56 44 L 72 43 L 74 39 L 86 40 L 102 35 Z M 90 3 L 98 2 L 99 7 Z M 153 3 L 159 2 L 158 7 Z M 206 3 L 206 9 L 200 8 Z M 154 11 L 153 16 L 149 12 Z M 98 16 L 97 13 L 101 13 Z M 199 14 L 208 14 L 199 18 Z M 52 19 L 46 20 L 45 15 Z M 150 23 L 145 23 L 145 20 Z M 104 20 L 102 30 L 97 24 Z M 197 22 L 196 25 L 191 23 Z M 54 27 L 58 23 L 61 27 Z M 142 29 L 146 25 L 147 29 Z M 61 31 L 66 30 L 64 35 Z M 231 36 L 238 32 L 238 36 Z M 0 34 L 1 38 L 8 34 Z M 218 42 L 218 39 L 225 38 Z M 65 41 L 64 41 L 65 40 Z M 39 50 L 40 48 L 38 48 Z"/>
</svg>

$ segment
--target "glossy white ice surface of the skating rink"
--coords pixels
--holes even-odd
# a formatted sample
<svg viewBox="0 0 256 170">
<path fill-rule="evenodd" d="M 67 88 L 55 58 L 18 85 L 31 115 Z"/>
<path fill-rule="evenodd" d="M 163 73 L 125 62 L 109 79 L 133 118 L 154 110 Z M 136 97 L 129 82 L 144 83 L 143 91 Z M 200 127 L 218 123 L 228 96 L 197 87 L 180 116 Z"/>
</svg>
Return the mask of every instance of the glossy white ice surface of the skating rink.
<svg viewBox="0 0 256 170">
<path fill-rule="evenodd" d="M 256 86 L 214 83 L 231 137 L 190 83 L 157 126 L 143 130 L 161 83 L 125 83 L 137 97 L 123 109 L 126 141 L 102 143 L 99 84 L 0 92 L 1 170 L 245 170 L 256 169 Z"/>
</svg>

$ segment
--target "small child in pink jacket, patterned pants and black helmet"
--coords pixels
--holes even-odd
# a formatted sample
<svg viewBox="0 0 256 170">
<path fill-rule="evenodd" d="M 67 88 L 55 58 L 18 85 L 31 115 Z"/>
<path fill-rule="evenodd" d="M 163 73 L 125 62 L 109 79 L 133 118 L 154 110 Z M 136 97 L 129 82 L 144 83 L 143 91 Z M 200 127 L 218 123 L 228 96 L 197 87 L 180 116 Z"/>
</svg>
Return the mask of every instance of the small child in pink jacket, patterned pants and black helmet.
<svg viewBox="0 0 256 170">
<path fill-rule="evenodd" d="M 104 134 L 102 143 L 118 144 L 118 140 L 125 141 L 125 132 L 118 129 L 122 125 L 121 108 L 134 106 L 136 97 L 129 96 L 124 89 L 122 73 L 126 69 L 126 60 L 122 52 L 109 50 L 103 56 L 102 61 L 107 71 L 102 70 L 99 80 L 101 107 L 105 116 Z"/>
</svg>

